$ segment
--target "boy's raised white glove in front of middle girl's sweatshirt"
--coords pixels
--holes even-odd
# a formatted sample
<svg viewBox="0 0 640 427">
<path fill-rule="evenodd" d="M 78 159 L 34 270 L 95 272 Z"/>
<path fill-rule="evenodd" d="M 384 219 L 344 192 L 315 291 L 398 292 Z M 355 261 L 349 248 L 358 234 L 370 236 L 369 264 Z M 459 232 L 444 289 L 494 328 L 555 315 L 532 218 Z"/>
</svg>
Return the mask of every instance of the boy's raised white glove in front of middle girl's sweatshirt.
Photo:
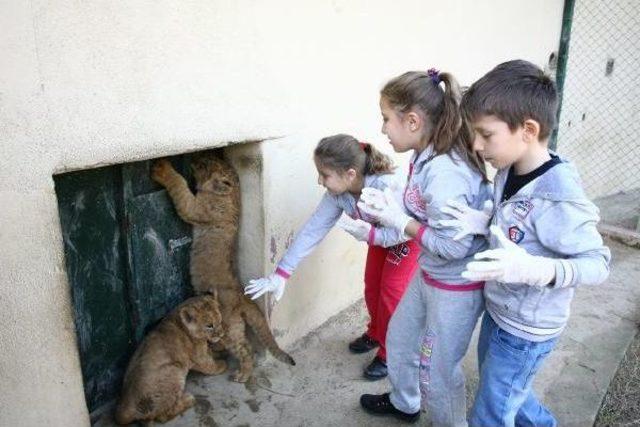
<svg viewBox="0 0 640 427">
<path fill-rule="evenodd" d="M 493 202 L 487 200 L 481 211 L 470 208 L 462 202 L 447 200 L 447 205 L 440 208 L 440 212 L 451 215 L 455 219 L 441 219 L 436 224 L 441 227 L 457 229 L 453 240 L 460 240 L 469 234 L 489 234 L 489 222 L 493 214 Z"/>
</svg>

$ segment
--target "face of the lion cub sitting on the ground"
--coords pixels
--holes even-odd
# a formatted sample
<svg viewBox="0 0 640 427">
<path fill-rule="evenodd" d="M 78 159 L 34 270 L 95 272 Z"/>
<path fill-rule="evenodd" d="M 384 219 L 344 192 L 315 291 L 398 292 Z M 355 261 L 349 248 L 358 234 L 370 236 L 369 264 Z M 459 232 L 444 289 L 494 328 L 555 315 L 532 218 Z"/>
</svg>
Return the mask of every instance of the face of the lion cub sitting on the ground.
<svg viewBox="0 0 640 427">
<path fill-rule="evenodd" d="M 196 340 L 218 342 L 224 336 L 220 306 L 213 296 L 205 295 L 180 308 L 180 321 Z"/>
</svg>

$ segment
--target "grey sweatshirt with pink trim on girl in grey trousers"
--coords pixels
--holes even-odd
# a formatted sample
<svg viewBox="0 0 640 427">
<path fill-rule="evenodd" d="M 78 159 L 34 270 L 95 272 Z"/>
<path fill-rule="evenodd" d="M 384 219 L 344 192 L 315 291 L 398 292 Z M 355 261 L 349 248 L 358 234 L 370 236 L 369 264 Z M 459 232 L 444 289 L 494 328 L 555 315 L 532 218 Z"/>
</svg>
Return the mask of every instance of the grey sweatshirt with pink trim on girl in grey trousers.
<svg viewBox="0 0 640 427">
<path fill-rule="evenodd" d="M 439 219 L 449 219 L 440 212 L 448 200 L 482 209 L 484 202 L 490 198 L 491 184 L 483 181 L 482 175 L 455 153 L 433 156 L 432 147 L 414 153 L 404 204 L 423 225 L 416 240 L 422 247 L 418 262 L 428 284 L 452 290 L 482 287 L 482 283 L 469 282 L 460 273 L 476 252 L 486 248 L 486 239 L 482 236 L 466 236 L 455 241 L 453 236 L 457 230 L 433 227 L 432 224 Z"/>
</svg>

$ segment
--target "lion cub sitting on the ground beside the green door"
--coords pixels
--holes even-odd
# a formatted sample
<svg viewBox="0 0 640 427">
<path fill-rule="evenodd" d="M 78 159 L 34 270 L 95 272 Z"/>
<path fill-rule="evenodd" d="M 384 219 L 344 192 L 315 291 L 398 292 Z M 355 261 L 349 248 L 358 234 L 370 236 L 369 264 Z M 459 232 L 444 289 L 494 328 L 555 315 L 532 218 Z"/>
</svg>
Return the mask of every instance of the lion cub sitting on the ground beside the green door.
<svg viewBox="0 0 640 427">
<path fill-rule="evenodd" d="M 213 296 L 193 297 L 176 307 L 133 354 L 116 422 L 166 422 L 192 407 L 195 399 L 184 391 L 187 373 L 193 369 L 215 375 L 227 369 L 209 350 L 209 343 L 223 335 L 222 317 Z"/>
</svg>

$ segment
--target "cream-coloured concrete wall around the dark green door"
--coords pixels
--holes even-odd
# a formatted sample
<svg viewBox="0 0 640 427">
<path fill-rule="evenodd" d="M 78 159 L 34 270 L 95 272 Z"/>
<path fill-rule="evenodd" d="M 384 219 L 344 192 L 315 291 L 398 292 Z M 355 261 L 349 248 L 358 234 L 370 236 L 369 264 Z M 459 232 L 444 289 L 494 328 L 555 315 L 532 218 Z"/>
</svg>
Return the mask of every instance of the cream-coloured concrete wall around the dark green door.
<svg viewBox="0 0 640 427">
<path fill-rule="evenodd" d="M 542 65 L 561 13 L 561 0 L 0 3 L 0 425 L 88 424 L 52 174 L 267 140 L 266 273 L 322 193 L 319 138 L 387 149 L 386 79 Z M 282 343 L 362 295 L 364 254 L 332 232 L 301 265 L 273 311 Z"/>
</svg>

